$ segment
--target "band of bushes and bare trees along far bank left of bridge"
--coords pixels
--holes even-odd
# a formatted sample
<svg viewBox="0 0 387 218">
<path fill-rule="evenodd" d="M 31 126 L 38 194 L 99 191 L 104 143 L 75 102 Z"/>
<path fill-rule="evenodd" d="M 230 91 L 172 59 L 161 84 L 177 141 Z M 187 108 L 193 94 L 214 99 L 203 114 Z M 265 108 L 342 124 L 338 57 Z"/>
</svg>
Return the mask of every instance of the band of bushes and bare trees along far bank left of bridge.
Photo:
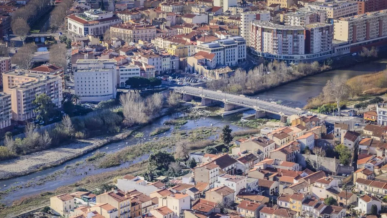
<svg viewBox="0 0 387 218">
<path fill-rule="evenodd" d="M 13 139 L 9 133 L 5 135 L 4 144 L 0 146 L 0 161 L 55 148 L 78 139 L 115 135 L 123 129 L 148 123 L 160 115 L 163 107 L 178 108 L 180 98 L 177 93 L 171 93 L 167 99 L 160 93 L 148 97 L 127 93 L 121 95 L 121 107 L 118 109 L 103 109 L 73 118 L 65 116 L 62 122 L 42 133 L 28 123 L 24 138 Z"/>
</svg>

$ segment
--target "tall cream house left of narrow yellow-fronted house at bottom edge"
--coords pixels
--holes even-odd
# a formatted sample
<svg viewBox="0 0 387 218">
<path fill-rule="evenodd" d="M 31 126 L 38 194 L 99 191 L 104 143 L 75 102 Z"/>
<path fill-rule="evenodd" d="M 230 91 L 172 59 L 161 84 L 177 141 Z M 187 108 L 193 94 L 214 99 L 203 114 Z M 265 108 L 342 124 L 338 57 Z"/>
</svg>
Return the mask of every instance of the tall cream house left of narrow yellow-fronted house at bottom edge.
<svg viewBox="0 0 387 218">
<path fill-rule="evenodd" d="M 111 190 L 96 196 L 97 204 L 108 203 L 118 209 L 118 218 L 130 217 L 130 195 L 120 189 Z"/>
</svg>

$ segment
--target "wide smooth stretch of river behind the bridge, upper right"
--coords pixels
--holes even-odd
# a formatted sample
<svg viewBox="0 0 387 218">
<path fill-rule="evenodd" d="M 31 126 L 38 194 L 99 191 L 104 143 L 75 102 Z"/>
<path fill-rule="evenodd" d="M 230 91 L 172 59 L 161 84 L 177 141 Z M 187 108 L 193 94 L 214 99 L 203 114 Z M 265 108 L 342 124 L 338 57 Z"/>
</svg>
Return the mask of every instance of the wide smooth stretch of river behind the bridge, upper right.
<svg viewBox="0 0 387 218">
<path fill-rule="evenodd" d="M 266 92 L 261 92 L 255 95 L 255 97 L 276 101 L 284 100 L 285 104 L 289 104 L 293 107 L 303 107 L 306 105 L 306 101 L 309 98 L 315 97 L 322 92 L 322 88 L 328 80 L 334 80 L 335 78 L 349 79 L 361 74 L 384 70 L 386 69 L 386 66 L 387 59 L 380 59 L 378 61 L 356 64 L 346 69 L 326 71 L 272 88 Z"/>
</svg>

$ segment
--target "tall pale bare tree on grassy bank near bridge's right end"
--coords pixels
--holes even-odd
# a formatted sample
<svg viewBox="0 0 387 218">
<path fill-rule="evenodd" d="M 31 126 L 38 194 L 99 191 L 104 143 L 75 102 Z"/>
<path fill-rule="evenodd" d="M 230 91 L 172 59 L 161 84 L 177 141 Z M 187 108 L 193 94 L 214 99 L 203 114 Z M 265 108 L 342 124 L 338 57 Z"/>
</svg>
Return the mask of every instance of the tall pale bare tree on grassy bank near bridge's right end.
<svg viewBox="0 0 387 218">
<path fill-rule="evenodd" d="M 349 87 L 346 85 L 346 80 L 343 78 L 328 80 L 322 92 L 327 100 L 336 101 L 337 112 L 340 115 L 341 102 L 349 95 Z"/>
</svg>

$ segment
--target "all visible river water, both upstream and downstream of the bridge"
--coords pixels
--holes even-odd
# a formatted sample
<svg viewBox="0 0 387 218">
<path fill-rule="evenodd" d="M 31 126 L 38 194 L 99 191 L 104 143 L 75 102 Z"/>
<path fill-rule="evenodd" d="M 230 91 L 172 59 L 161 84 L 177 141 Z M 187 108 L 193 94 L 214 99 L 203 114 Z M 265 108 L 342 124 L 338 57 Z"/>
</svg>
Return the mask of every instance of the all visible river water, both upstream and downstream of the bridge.
<svg viewBox="0 0 387 218">
<path fill-rule="evenodd" d="M 380 70 L 386 69 L 387 59 L 382 59 L 379 61 L 369 62 L 358 64 L 356 66 L 348 67 L 348 69 L 338 69 L 333 71 L 327 71 L 324 73 L 320 73 L 314 76 L 309 76 L 302 78 L 298 81 L 288 83 L 286 85 L 273 88 L 266 92 L 259 93 L 255 95 L 255 97 L 259 97 L 260 99 L 272 99 L 272 100 L 283 100 L 284 104 L 291 104 L 292 106 L 302 107 L 306 104 L 306 100 L 310 97 L 314 97 L 319 95 L 322 91 L 322 88 L 326 84 L 328 80 L 332 80 L 335 78 L 351 78 L 353 76 L 358 76 L 361 74 L 377 72 Z M 223 126 L 230 125 L 230 123 L 234 121 L 240 120 L 242 116 L 247 114 L 253 114 L 253 110 L 244 111 L 241 114 L 233 114 L 225 117 L 216 116 L 216 117 L 208 117 L 201 118 L 198 120 L 189 120 L 187 124 L 183 125 L 181 130 L 189 130 L 202 126 Z M 149 137 L 149 133 L 154 129 L 163 126 L 164 121 L 168 119 L 173 119 L 179 116 L 183 116 L 182 113 L 171 114 L 168 116 L 164 116 L 162 118 L 156 119 L 152 124 L 142 127 L 139 132 L 144 133 L 144 138 L 146 139 L 135 139 L 134 137 L 129 137 L 128 139 L 122 140 L 120 142 L 116 142 L 113 144 L 106 145 L 98 149 L 101 152 L 116 152 L 119 149 L 122 149 L 125 146 L 135 145 L 138 142 L 145 142 L 147 140 L 151 140 L 152 137 Z M 233 130 L 242 130 L 247 128 L 242 128 L 239 126 L 230 125 Z M 170 131 L 165 134 L 159 135 L 168 136 L 171 134 Z M 8 180 L 0 181 L 0 191 L 4 191 L 10 188 L 15 188 L 17 186 L 23 186 L 22 189 L 15 188 L 14 191 L 10 192 L 9 195 L 0 199 L 0 202 L 5 204 L 10 204 L 12 201 L 20 199 L 22 197 L 31 196 L 34 194 L 38 194 L 40 192 L 55 190 L 62 185 L 72 184 L 85 176 L 94 175 L 98 173 L 103 173 L 105 171 L 117 170 L 119 168 L 128 167 L 132 162 L 124 163 L 117 167 L 112 167 L 108 169 L 98 169 L 94 168 L 91 164 L 86 163 L 84 161 L 88 156 L 92 156 L 92 154 L 86 154 L 84 156 L 78 157 L 71 161 L 67 161 L 66 163 L 56 166 L 53 168 L 48 168 L 46 170 L 32 173 L 27 176 L 20 176 L 17 178 L 11 178 Z M 141 161 L 142 159 L 146 159 L 147 156 L 139 157 L 139 159 L 135 160 Z M 83 161 L 79 166 L 75 166 L 67 168 L 67 165 L 74 166 L 75 163 Z M 134 163 L 135 163 L 134 162 Z M 87 175 L 85 175 L 87 172 Z M 49 178 L 49 179 L 48 179 Z M 44 180 L 44 182 L 43 182 Z M 26 184 L 32 183 L 30 187 L 25 187 Z M 6 185 L 6 186 L 4 186 Z"/>
</svg>

